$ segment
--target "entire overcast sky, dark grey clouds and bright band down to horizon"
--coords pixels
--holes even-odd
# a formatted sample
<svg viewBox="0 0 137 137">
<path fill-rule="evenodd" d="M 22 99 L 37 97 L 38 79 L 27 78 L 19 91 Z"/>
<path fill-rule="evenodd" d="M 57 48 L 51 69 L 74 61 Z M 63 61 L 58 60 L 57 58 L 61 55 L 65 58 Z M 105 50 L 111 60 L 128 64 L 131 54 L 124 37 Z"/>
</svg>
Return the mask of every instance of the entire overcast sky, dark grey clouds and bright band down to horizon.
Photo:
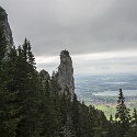
<svg viewBox="0 0 137 137">
<path fill-rule="evenodd" d="M 0 0 L 14 44 L 49 72 L 67 49 L 75 73 L 137 73 L 137 0 Z"/>
</svg>

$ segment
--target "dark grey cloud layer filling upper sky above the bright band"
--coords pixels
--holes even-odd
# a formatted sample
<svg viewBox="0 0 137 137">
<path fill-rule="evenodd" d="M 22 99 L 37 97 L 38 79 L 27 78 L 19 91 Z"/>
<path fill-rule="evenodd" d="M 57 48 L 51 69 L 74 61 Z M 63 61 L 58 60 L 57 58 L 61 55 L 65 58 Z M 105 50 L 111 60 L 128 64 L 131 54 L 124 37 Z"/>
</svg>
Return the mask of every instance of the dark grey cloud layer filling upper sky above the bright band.
<svg viewBox="0 0 137 137">
<path fill-rule="evenodd" d="M 27 37 L 36 56 L 137 49 L 135 0 L 2 2 L 15 44 Z"/>
</svg>

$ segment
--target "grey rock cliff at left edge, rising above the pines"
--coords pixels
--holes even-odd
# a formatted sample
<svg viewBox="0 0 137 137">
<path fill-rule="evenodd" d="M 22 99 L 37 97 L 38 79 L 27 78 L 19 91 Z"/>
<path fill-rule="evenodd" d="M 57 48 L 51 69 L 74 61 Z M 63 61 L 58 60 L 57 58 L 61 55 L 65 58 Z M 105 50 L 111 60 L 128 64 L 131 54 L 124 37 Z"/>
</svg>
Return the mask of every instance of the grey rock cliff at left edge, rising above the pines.
<svg viewBox="0 0 137 137">
<path fill-rule="evenodd" d="M 4 56 L 4 58 L 7 58 L 8 53 L 10 53 L 13 46 L 13 37 L 12 37 L 12 31 L 8 22 L 8 14 L 5 10 L 2 9 L 1 7 L 0 7 L 0 28 L 3 30 L 3 34 L 7 42 L 5 56 Z"/>
</svg>

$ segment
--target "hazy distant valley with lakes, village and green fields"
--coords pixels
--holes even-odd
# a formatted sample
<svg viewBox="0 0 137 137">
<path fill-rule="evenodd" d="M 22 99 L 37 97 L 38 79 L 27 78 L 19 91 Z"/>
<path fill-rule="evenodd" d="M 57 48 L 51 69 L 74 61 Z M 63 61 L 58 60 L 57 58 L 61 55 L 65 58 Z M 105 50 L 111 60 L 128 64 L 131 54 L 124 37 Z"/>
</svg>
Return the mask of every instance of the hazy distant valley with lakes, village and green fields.
<svg viewBox="0 0 137 137">
<path fill-rule="evenodd" d="M 79 100 L 102 110 L 107 118 L 115 114 L 121 88 L 127 107 L 133 110 L 137 106 L 137 75 L 76 76 L 75 81 Z"/>
</svg>

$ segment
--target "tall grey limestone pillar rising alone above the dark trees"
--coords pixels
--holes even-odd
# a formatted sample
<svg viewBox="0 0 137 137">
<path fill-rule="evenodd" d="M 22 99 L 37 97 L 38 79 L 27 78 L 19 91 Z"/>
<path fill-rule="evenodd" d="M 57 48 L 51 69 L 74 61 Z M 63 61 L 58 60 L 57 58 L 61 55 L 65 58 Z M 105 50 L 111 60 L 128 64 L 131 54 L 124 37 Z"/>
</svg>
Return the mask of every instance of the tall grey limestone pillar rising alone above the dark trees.
<svg viewBox="0 0 137 137">
<path fill-rule="evenodd" d="M 75 93 L 72 60 L 69 56 L 68 50 L 62 50 L 60 53 L 60 65 L 58 67 L 58 83 L 62 91 L 66 91 L 67 89 L 69 90 L 69 93 L 71 95 Z"/>
</svg>

